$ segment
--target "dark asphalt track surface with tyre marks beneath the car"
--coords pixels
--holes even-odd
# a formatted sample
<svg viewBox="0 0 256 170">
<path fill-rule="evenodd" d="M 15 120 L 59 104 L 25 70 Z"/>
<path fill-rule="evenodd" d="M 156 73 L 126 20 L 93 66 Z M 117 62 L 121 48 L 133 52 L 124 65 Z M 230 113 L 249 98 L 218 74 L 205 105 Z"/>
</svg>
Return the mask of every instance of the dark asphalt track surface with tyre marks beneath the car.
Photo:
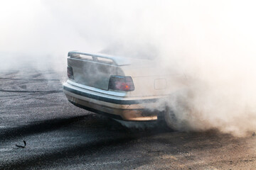
<svg viewBox="0 0 256 170">
<path fill-rule="evenodd" d="M 176 132 L 161 121 L 127 128 L 69 103 L 62 79 L 0 72 L 0 169 L 256 169 L 254 134 Z"/>
</svg>

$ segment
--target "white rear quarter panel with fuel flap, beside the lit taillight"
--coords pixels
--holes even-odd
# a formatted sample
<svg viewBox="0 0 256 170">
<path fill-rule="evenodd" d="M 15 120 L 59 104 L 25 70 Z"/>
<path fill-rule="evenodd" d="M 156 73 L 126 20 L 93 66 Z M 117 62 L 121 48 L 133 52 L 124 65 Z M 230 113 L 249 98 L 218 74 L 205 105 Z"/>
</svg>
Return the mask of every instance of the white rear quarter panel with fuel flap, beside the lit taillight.
<svg viewBox="0 0 256 170">
<path fill-rule="evenodd" d="M 127 65 L 121 70 L 124 76 L 131 76 L 134 81 L 135 89 L 127 96 L 168 96 L 185 87 L 183 74 L 164 72 L 154 64 Z"/>
</svg>

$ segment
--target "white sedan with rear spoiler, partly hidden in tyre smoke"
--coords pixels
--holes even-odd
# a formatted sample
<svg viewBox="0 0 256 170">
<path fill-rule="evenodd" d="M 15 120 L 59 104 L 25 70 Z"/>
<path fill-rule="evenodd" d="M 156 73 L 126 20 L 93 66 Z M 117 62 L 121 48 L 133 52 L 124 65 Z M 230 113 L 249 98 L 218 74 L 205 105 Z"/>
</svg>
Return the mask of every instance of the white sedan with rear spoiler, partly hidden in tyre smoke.
<svg viewBox="0 0 256 170">
<path fill-rule="evenodd" d="M 157 120 L 164 114 L 175 128 L 176 118 L 164 104 L 181 89 L 172 81 L 183 75 L 166 74 L 156 60 L 68 52 L 68 81 L 63 91 L 68 101 L 87 111 L 127 121 Z"/>
</svg>

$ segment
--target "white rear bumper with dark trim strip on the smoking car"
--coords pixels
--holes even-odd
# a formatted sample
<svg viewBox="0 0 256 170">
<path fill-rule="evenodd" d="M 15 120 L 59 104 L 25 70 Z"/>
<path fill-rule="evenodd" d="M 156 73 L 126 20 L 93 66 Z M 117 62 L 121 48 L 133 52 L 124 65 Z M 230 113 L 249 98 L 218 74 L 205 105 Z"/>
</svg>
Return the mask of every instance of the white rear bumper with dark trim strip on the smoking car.
<svg viewBox="0 0 256 170">
<path fill-rule="evenodd" d="M 158 98 L 112 96 L 75 86 L 75 83 L 70 84 L 68 81 L 63 84 L 63 91 L 68 101 L 87 111 L 100 113 L 119 120 L 157 120 L 158 112 L 149 111 L 146 108 L 154 105 Z"/>
</svg>

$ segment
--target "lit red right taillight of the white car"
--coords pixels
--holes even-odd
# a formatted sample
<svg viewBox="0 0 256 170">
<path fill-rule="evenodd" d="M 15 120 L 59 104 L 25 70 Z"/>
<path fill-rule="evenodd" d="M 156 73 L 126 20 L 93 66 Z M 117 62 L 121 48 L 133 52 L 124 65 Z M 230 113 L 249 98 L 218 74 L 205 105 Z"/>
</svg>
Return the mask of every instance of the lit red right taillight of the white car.
<svg viewBox="0 0 256 170">
<path fill-rule="evenodd" d="M 134 91 L 132 77 L 111 76 L 109 89 L 119 91 Z"/>
</svg>

